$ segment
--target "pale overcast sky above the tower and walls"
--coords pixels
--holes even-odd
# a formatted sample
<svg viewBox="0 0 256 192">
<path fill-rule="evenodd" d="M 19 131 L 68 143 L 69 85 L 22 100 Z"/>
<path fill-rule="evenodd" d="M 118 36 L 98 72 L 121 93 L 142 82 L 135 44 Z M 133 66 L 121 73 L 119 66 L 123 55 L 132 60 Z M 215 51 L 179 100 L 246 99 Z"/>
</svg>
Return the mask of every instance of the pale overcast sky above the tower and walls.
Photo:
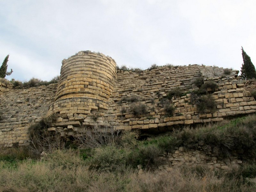
<svg viewBox="0 0 256 192">
<path fill-rule="evenodd" d="M 117 65 L 256 63 L 255 0 L 0 0 L 0 65 L 8 79 L 50 80 L 79 51 Z"/>
</svg>

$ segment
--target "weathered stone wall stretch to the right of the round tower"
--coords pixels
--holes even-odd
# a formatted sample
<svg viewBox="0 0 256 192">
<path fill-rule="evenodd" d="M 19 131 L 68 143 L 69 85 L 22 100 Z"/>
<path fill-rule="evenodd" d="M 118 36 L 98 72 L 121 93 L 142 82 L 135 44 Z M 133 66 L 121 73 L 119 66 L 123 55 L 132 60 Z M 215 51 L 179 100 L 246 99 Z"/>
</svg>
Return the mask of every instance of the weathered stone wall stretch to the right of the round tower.
<svg viewBox="0 0 256 192">
<path fill-rule="evenodd" d="M 191 65 L 184 67 L 159 67 L 143 72 L 119 72 L 113 95 L 109 100 L 106 120 L 117 122 L 119 129 L 143 129 L 166 131 L 174 126 L 222 121 L 228 116 L 238 116 L 254 113 L 256 101 L 250 92 L 244 89 L 244 80 L 237 80 L 237 72 L 223 76 L 223 68 Z M 217 102 L 214 112 L 200 113 L 195 102 L 191 102 L 190 91 L 198 90 L 195 79 L 204 78 L 204 83 L 213 80 L 219 85 L 216 90 L 209 90 Z M 168 92 L 179 87 L 187 94 L 173 97 L 171 103 L 175 106 L 173 116 L 166 114 L 161 98 Z M 147 113 L 136 116 L 131 111 L 134 103 L 122 101 L 122 97 L 136 95 L 140 103 L 147 106 Z M 120 102 L 122 101 L 122 102 Z"/>
</svg>

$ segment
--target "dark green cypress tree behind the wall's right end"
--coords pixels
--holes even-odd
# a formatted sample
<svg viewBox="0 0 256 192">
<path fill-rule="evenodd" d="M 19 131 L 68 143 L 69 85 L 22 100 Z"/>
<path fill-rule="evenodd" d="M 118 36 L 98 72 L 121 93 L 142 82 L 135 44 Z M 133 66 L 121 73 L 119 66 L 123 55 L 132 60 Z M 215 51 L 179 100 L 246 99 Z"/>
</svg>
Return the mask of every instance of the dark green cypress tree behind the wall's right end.
<svg viewBox="0 0 256 192">
<path fill-rule="evenodd" d="M 241 78 L 242 79 L 252 79 L 256 78 L 256 70 L 252 64 L 251 58 L 246 54 L 242 47 L 242 56 L 244 64 L 241 67 Z"/>
</svg>

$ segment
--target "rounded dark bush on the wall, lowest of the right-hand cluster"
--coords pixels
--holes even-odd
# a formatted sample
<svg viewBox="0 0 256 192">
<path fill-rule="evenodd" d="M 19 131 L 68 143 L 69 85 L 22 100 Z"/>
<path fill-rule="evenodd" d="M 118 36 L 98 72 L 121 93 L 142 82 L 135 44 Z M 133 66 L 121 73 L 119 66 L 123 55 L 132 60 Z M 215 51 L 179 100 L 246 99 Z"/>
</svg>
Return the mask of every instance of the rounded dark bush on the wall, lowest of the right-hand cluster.
<svg viewBox="0 0 256 192">
<path fill-rule="evenodd" d="M 206 110 L 210 110 L 211 112 L 214 112 L 216 110 L 216 102 L 212 98 L 212 95 L 204 95 L 201 96 L 198 101 L 196 102 L 197 110 L 200 113 L 205 113 Z"/>
</svg>

